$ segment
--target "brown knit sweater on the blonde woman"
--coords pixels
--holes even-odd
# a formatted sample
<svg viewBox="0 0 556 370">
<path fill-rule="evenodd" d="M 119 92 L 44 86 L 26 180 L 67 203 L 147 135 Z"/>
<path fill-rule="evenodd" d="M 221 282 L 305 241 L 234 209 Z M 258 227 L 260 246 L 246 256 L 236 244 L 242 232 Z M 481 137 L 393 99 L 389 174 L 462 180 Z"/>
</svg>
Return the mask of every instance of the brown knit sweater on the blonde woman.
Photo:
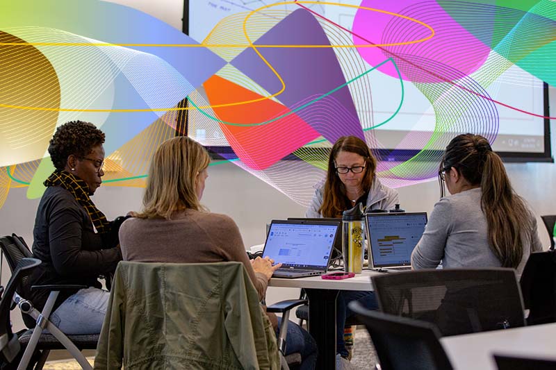
<svg viewBox="0 0 556 370">
<path fill-rule="evenodd" d="M 259 298 L 264 298 L 268 280 L 255 273 L 238 226 L 217 213 L 184 210 L 167 219 L 127 219 L 120 227 L 120 246 L 126 261 L 135 262 L 242 262 Z"/>
</svg>

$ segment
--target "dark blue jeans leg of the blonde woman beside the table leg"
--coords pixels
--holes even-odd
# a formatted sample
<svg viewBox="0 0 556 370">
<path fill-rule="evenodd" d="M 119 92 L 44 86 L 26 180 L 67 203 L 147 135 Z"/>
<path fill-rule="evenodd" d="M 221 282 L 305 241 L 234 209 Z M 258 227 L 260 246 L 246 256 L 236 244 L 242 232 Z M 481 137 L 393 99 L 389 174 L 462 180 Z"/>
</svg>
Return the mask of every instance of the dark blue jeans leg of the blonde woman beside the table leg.
<svg viewBox="0 0 556 370">
<path fill-rule="evenodd" d="M 278 328 L 282 318 L 278 318 Z M 278 331 L 276 336 L 278 336 Z M 304 328 L 293 321 L 288 322 L 288 335 L 286 335 L 286 355 L 300 353 L 300 370 L 313 370 L 317 362 L 317 344 Z"/>
</svg>

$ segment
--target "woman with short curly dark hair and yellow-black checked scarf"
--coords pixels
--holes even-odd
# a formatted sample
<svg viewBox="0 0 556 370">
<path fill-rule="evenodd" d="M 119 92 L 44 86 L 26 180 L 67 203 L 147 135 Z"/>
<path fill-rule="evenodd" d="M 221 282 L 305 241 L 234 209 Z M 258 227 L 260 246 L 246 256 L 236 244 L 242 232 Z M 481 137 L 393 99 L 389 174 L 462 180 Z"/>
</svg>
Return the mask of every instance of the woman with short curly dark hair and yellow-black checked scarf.
<svg viewBox="0 0 556 370">
<path fill-rule="evenodd" d="M 108 296 L 97 280 L 122 260 L 113 223 L 90 196 L 102 183 L 104 133 L 95 125 L 71 121 L 60 126 L 48 151 L 56 170 L 44 181 L 33 230 L 33 255 L 42 261 L 31 285 L 77 284 L 85 289 L 60 292 L 51 321 L 67 334 L 100 333 Z M 116 230 L 117 232 L 117 230 Z M 116 234 L 117 235 L 117 234 Z M 49 292 L 25 297 L 42 310 Z"/>
</svg>

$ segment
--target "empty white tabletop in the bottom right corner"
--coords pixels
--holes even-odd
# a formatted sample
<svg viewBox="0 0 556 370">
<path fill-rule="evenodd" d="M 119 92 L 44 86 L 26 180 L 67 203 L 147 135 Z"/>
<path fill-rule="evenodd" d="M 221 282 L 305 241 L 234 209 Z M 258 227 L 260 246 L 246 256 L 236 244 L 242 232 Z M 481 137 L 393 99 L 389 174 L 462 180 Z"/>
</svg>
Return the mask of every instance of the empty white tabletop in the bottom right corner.
<svg viewBox="0 0 556 370">
<path fill-rule="evenodd" d="M 455 370 L 496 370 L 493 353 L 556 360 L 556 323 L 440 339 Z"/>
</svg>

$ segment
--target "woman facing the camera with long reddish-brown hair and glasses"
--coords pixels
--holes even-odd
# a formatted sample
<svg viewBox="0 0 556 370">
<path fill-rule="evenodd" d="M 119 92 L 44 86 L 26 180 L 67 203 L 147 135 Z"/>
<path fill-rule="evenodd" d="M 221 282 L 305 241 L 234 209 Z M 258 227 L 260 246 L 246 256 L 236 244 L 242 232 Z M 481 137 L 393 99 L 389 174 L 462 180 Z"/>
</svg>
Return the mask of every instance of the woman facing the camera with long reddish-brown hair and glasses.
<svg viewBox="0 0 556 370">
<path fill-rule="evenodd" d="M 366 142 L 355 136 L 340 137 L 328 158 L 325 183 L 318 187 L 305 217 L 342 217 L 342 212 L 363 203 L 369 210 L 389 210 L 398 192 L 375 176 L 377 160 Z"/>
</svg>

